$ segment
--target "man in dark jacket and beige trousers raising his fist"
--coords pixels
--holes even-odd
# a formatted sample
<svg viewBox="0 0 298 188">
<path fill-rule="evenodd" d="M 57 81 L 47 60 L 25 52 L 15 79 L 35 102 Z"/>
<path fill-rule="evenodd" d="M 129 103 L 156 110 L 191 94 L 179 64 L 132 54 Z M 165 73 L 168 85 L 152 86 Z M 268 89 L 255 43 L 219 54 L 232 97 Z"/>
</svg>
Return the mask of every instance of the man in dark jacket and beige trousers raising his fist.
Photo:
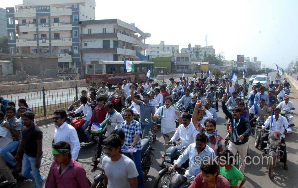
<svg viewBox="0 0 298 188">
<path fill-rule="evenodd" d="M 239 170 L 244 172 L 245 170 L 245 163 L 244 157 L 247 155 L 247 147 L 248 147 L 248 138 L 249 135 L 252 133 L 252 128 L 246 118 L 242 118 L 242 112 L 240 108 L 233 109 L 233 115 L 228 111 L 226 108 L 226 94 L 222 96 L 221 107 L 222 111 L 226 114 L 228 118 L 231 119 L 231 138 L 229 144 L 229 150 L 235 156 L 237 151 L 240 156 L 240 165 Z"/>
</svg>

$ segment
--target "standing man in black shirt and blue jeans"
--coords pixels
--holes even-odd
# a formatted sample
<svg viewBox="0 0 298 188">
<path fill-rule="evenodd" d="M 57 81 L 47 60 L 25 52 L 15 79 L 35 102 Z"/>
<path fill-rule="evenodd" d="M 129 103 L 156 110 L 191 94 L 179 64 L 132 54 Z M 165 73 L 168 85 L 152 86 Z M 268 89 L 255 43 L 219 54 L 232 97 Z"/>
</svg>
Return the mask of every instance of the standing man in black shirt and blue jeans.
<svg viewBox="0 0 298 188">
<path fill-rule="evenodd" d="M 22 119 L 24 124 L 22 128 L 22 141 L 13 160 L 19 160 L 20 153 L 22 149 L 24 149 L 22 176 L 35 180 L 35 187 L 42 188 L 46 179 L 40 175 L 39 170 L 42 158 L 42 132 L 40 128 L 34 124 L 33 112 L 24 112 Z"/>
</svg>

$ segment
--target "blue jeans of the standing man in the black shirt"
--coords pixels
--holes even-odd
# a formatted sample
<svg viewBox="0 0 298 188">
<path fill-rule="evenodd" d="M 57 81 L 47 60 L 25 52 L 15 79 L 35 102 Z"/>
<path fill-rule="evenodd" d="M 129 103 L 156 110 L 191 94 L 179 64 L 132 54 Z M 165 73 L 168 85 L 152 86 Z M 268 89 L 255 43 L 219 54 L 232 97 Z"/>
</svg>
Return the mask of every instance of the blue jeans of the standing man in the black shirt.
<svg viewBox="0 0 298 188">
<path fill-rule="evenodd" d="M 39 158 L 41 162 L 42 155 Z M 25 178 L 35 180 L 35 188 L 42 188 L 42 177 L 40 175 L 40 170 L 35 168 L 36 157 L 29 157 L 24 154 L 23 165 L 22 165 L 22 176 Z"/>
</svg>

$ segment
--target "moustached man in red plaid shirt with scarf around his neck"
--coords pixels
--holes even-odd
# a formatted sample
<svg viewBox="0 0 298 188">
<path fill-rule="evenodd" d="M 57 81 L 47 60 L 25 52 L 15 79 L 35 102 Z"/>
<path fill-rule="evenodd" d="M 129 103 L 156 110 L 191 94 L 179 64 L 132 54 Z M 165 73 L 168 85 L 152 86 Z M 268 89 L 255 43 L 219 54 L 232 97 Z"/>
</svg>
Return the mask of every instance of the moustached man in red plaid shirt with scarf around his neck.
<svg viewBox="0 0 298 188">
<path fill-rule="evenodd" d="M 208 137 L 208 146 L 212 148 L 217 155 L 226 149 L 225 140 L 216 131 L 216 120 L 208 118 L 204 122 L 205 134 Z"/>
</svg>

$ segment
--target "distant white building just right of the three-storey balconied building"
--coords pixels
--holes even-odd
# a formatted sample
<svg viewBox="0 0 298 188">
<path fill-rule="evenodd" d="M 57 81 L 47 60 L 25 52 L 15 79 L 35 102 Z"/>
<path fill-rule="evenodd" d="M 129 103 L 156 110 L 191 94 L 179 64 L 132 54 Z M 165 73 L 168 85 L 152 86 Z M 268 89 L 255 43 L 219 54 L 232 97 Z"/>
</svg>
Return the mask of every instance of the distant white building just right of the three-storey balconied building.
<svg viewBox="0 0 298 188">
<path fill-rule="evenodd" d="M 179 45 L 164 44 L 164 41 L 160 41 L 159 44 L 149 44 L 146 55 L 152 55 L 152 57 L 170 57 L 178 51 Z"/>
</svg>

